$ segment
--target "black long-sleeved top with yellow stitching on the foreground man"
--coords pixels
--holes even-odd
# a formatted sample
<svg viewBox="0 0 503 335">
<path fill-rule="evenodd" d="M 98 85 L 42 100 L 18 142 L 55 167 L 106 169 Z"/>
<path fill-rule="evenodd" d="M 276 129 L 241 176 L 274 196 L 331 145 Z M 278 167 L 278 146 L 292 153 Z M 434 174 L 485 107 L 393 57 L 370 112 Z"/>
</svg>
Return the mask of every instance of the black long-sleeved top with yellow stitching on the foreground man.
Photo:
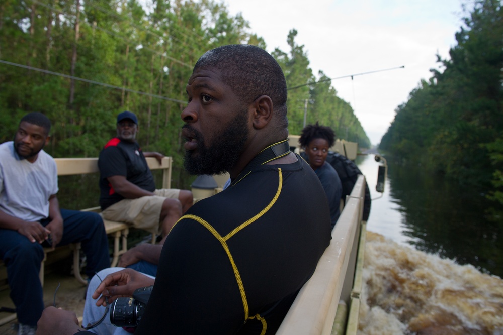
<svg viewBox="0 0 503 335">
<path fill-rule="evenodd" d="M 186 212 L 136 335 L 276 332 L 331 238 L 321 183 L 297 159 L 262 165 Z"/>
</svg>

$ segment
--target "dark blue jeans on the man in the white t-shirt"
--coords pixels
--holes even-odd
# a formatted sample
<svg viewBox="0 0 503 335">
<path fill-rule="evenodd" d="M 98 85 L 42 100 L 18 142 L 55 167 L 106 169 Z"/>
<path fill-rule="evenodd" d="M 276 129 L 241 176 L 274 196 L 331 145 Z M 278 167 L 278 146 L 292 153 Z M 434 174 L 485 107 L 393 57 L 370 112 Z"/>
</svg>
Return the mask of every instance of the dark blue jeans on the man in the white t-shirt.
<svg viewBox="0 0 503 335">
<path fill-rule="evenodd" d="M 61 209 L 61 216 L 63 237 L 57 246 L 80 242 L 87 256 L 86 274 L 89 278 L 108 268 L 108 239 L 101 216 L 93 212 L 67 209 Z M 49 219 L 40 221 L 42 226 L 49 222 Z M 40 263 L 44 258 L 42 245 L 30 242 L 16 231 L 0 229 L 0 258 L 7 267 L 10 297 L 16 306 L 19 322 L 36 326 L 44 309 L 42 284 L 39 279 Z"/>
</svg>

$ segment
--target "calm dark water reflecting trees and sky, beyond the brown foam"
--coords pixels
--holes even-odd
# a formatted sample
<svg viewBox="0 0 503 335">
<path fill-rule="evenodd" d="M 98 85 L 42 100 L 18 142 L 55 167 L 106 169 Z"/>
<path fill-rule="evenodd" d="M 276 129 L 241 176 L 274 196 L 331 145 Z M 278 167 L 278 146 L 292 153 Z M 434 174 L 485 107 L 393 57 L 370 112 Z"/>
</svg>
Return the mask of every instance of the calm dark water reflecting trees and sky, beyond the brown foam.
<svg viewBox="0 0 503 335">
<path fill-rule="evenodd" d="M 372 199 L 380 196 L 375 191 L 379 163 L 373 157 L 357 161 Z M 491 205 L 477 191 L 388 159 L 385 192 L 372 201 L 367 229 L 398 244 L 503 277 L 503 222 L 486 219 Z"/>
</svg>

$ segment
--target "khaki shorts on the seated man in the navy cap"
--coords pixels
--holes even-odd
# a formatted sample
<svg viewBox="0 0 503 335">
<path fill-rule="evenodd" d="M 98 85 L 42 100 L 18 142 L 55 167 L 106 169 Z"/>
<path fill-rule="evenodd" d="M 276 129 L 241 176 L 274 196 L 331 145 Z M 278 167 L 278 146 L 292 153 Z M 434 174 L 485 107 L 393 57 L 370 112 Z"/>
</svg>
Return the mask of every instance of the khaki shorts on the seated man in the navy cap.
<svg viewBox="0 0 503 335">
<path fill-rule="evenodd" d="M 156 189 L 155 195 L 142 196 L 138 199 L 123 199 L 106 208 L 103 218 L 126 222 L 135 228 L 144 229 L 153 234 L 160 232 L 160 211 L 166 198 L 178 199 L 180 190 L 176 188 Z"/>
</svg>

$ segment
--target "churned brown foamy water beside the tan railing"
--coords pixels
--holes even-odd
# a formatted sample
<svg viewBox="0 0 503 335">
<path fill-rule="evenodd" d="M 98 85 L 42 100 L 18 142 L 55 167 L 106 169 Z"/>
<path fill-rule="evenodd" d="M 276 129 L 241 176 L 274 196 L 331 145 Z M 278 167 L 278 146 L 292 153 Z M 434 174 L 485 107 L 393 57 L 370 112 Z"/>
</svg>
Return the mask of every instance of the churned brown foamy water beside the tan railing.
<svg viewBox="0 0 503 335">
<path fill-rule="evenodd" d="M 368 232 L 363 279 L 361 335 L 503 334 L 503 280 L 471 265 Z"/>
</svg>

